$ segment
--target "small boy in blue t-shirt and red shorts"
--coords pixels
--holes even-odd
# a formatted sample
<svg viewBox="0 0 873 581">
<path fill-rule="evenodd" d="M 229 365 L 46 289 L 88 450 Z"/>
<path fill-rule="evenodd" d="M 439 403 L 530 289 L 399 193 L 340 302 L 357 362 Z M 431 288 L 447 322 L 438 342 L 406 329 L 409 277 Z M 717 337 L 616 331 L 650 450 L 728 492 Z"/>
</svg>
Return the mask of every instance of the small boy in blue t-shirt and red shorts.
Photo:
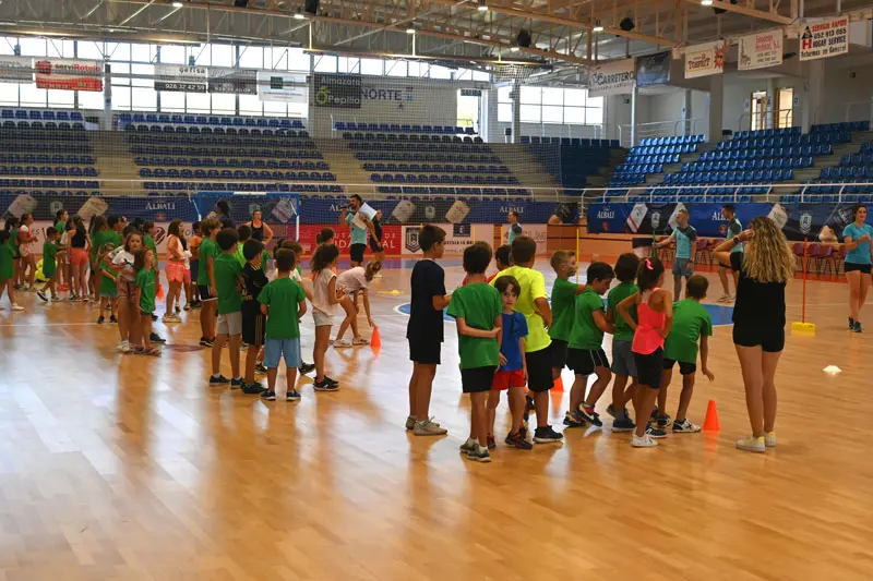
<svg viewBox="0 0 873 581">
<path fill-rule="evenodd" d="M 488 395 L 488 447 L 497 446 L 493 435 L 494 416 L 500 403 L 500 392 L 509 390 L 512 428 L 505 441 L 509 446 L 529 450 L 534 445 L 527 440 L 527 431 L 523 427 L 527 383 L 524 340 L 527 337 L 527 319 L 513 310 L 522 286 L 515 277 L 504 276 L 497 280 L 494 288 L 503 301 L 503 338 L 500 343 L 500 367 L 494 374 L 491 392 Z"/>
</svg>

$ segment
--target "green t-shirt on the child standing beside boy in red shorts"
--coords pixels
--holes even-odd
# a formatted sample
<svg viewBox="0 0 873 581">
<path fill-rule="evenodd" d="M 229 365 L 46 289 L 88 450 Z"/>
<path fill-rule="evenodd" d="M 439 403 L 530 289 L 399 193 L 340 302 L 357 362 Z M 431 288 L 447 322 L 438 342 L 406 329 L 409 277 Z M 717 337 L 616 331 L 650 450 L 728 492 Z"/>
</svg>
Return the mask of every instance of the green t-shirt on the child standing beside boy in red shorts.
<svg viewBox="0 0 873 581">
<path fill-rule="evenodd" d="M 449 314 L 464 318 L 467 326 L 475 329 L 491 330 L 494 319 L 503 312 L 500 292 L 486 282 L 465 285 L 452 294 Z M 461 354 L 461 368 L 497 367 L 500 364 L 500 346 L 497 337 L 482 339 L 458 334 L 457 351 Z"/>
</svg>

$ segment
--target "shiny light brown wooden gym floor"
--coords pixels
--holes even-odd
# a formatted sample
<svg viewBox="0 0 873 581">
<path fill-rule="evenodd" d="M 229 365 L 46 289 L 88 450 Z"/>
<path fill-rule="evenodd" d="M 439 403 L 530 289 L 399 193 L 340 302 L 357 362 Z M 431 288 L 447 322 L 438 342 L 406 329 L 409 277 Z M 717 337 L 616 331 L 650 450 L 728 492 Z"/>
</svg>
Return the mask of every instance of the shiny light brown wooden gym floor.
<svg viewBox="0 0 873 581">
<path fill-rule="evenodd" d="M 445 264 L 451 289 L 463 273 Z M 698 376 L 690 414 L 702 423 L 716 400 L 720 433 L 633 450 L 607 417 L 603 429 L 566 431 L 561 446 L 501 443 L 478 464 L 457 451 L 469 424 L 450 325 L 431 408 L 450 433 L 404 431 L 411 365 L 395 307 L 408 301 L 410 265 L 373 283 L 381 351 L 332 350 L 343 389 L 314 394 L 302 379 L 299 404 L 210 388 L 196 312 L 156 325 L 169 346 L 150 359 L 117 353 L 115 326 L 94 324 L 92 306 L 27 294 L 27 312 L 11 315 L 3 299 L 0 579 L 873 578 L 871 339 L 845 328 L 845 286 L 809 286 L 817 332 L 788 337 L 776 450 L 733 447 L 749 425 L 721 326 L 716 380 Z M 797 320 L 800 281 L 788 293 Z M 311 344 L 307 317 L 307 361 Z M 566 398 L 552 395 L 560 428 Z M 499 434 L 506 419 L 503 407 Z"/>
</svg>

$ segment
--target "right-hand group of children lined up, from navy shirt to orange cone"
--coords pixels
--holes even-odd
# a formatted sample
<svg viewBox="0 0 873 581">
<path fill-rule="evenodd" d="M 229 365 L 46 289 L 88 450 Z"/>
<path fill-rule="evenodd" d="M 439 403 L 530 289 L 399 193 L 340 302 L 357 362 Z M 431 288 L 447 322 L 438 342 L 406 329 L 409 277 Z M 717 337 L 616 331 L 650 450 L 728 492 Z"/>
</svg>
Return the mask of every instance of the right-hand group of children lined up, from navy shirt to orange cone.
<svg viewBox="0 0 873 581">
<path fill-rule="evenodd" d="M 486 278 L 492 258 L 490 245 L 477 242 L 467 246 L 463 258 L 466 278 L 450 295 L 444 271 L 435 262 L 443 255 L 444 240 L 445 232 L 431 225 L 419 234 L 424 259 L 411 275 L 407 339 L 414 371 L 407 429 L 419 436 L 446 433 L 429 415 L 429 408 L 443 341 L 442 311 L 447 306 L 457 326 L 462 388 L 471 403 L 470 434 L 461 451 L 471 460 L 491 460 L 489 449 L 497 445 L 495 409 L 504 390 L 512 415 L 506 445 L 533 448 L 526 428 L 529 411 L 537 416 L 534 443 L 561 441 L 563 435 L 548 424 L 548 391 L 565 366 L 575 374 L 563 422 L 567 427 L 602 425 L 595 406 L 614 374 L 608 407 L 614 416 L 612 429 L 634 432 L 632 446 L 656 446 L 653 438 L 666 437 L 670 424 L 673 433 L 699 432 L 686 413 L 698 350 L 703 373 L 714 379 L 707 367 L 713 325 L 701 305 L 708 289 L 706 278 L 692 276 L 686 299 L 673 304 L 672 293 L 660 288 L 665 269 L 657 258 L 641 262 L 635 254 L 623 254 L 614 268 L 595 262 L 588 267 L 586 283 L 576 285 L 571 281 L 576 274 L 574 253 L 558 251 L 551 257 L 558 278 L 550 304 L 545 278 L 534 269 L 536 242 L 517 237 L 511 247 L 498 249 L 499 273 L 490 278 Z M 610 291 L 614 278 L 619 285 Z M 605 334 L 613 335 L 611 365 L 602 349 Z M 673 421 L 666 413 L 666 400 L 677 363 L 683 385 Z M 597 378 L 586 396 L 590 375 Z M 627 403 L 634 407 L 635 422 Z"/>
</svg>

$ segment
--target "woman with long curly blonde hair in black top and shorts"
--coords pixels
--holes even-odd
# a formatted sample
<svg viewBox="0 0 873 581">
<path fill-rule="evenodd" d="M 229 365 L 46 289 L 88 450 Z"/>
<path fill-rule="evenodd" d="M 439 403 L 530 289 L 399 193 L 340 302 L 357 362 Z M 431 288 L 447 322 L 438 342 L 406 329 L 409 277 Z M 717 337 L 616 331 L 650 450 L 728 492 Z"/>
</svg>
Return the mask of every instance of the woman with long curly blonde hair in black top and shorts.
<svg viewBox="0 0 873 581">
<path fill-rule="evenodd" d="M 731 253 L 737 244 L 742 253 Z M 740 273 L 733 307 L 733 346 L 745 386 L 752 435 L 737 447 L 763 453 L 776 446 L 776 367 L 785 348 L 785 287 L 794 276 L 794 256 L 779 227 L 766 216 L 716 249 L 721 265 Z"/>
</svg>

